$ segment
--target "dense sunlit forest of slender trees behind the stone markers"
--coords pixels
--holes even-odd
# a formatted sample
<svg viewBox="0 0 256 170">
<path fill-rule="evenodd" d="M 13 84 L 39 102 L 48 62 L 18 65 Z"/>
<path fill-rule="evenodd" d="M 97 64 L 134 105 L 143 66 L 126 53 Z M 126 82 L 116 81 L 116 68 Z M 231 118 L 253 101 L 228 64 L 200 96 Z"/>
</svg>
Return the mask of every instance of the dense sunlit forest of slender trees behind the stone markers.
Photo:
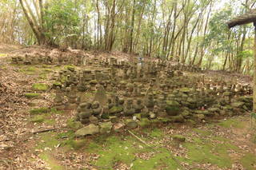
<svg viewBox="0 0 256 170">
<path fill-rule="evenodd" d="M 253 9 L 253 0 L 2 0 L 0 6 L 5 43 L 140 53 L 246 74 L 253 67 L 252 24 L 226 27 Z"/>
</svg>

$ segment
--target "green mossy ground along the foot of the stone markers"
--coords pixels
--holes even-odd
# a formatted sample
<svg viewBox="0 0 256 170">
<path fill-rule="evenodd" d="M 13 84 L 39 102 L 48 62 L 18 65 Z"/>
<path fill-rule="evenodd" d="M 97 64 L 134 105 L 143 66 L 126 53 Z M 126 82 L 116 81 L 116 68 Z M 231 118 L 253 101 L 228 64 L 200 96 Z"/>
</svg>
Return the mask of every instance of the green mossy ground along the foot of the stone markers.
<svg viewBox="0 0 256 170">
<path fill-rule="evenodd" d="M 42 134 L 41 137 L 44 142 L 38 144 L 38 148 L 54 149 L 54 146 L 60 144 L 62 149 L 71 152 L 96 154 L 98 159 L 91 160 L 90 164 L 94 164 L 99 169 L 101 169 L 100 167 L 102 169 L 115 169 L 118 163 L 126 164 L 128 168 L 134 170 L 188 169 L 182 167 L 182 164 L 188 164 L 189 169 L 203 169 L 200 168 L 201 164 L 210 164 L 211 167 L 228 169 L 232 168 L 233 164 L 237 162 L 242 164 L 244 168 L 253 170 L 256 165 L 253 152 L 239 148 L 238 144 L 234 144 L 228 137 L 218 136 L 214 132 L 214 127 L 218 126 L 225 129 L 230 127 L 230 122 L 236 121 L 238 120 L 222 121 L 221 124 L 206 125 L 206 128 L 191 128 L 189 132 L 182 135 L 178 133 L 170 134 L 167 132 L 168 130 L 166 131 L 166 128 L 156 127 L 144 128 L 141 130 L 142 132 L 134 131 L 134 134 L 146 141 L 150 147 L 142 144 L 126 132 L 76 139 L 74 129 L 70 128 L 66 132 Z M 73 121 L 70 120 L 67 123 L 70 124 L 70 122 Z M 244 126 L 236 128 L 244 128 Z M 173 136 L 184 136 L 186 140 L 177 144 L 175 140 L 170 140 Z M 170 148 L 176 147 L 179 150 L 179 147 L 182 147 L 186 156 L 177 155 L 175 149 L 166 147 L 162 144 L 162 141 L 165 141 Z M 240 156 L 234 158 L 234 156 L 230 156 L 230 152 L 237 152 Z M 52 164 L 52 168 L 58 165 L 56 160 L 47 154 L 49 153 L 42 152 L 42 158 Z"/>
</svg>

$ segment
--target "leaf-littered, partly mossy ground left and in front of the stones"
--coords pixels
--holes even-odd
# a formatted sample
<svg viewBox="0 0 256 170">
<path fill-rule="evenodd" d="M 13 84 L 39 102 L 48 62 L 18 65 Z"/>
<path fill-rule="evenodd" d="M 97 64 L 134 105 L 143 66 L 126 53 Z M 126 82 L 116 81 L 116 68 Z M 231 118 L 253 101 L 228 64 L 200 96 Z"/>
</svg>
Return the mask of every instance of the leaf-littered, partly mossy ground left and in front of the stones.
<svg viewBox="0 0 256 170">
<path fill-rule="evenodd" d="M 250 113 L 133 130 L 146 144 L 126 130 L 75 138 L 75 113 L 52 109 L 54 93 L 26 95 L 35 83 L 51 85 L 54 71 L 66 65 L 12 65 L 9 56 L 19 48 L 0 45 L 0 169 L 256 169 Z"/>
</svg>

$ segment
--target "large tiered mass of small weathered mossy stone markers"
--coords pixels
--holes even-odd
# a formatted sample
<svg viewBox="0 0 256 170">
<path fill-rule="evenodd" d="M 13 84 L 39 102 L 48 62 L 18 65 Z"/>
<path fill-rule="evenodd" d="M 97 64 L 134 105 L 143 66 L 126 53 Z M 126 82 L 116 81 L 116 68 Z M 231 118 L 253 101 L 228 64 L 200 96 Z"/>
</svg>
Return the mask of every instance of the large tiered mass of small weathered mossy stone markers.
<svg viewBox="0 0 256 170">
<path fill-rule="evenodd" d="M 55 107 L 76 110 L 75 121 L 84 125 L 77 136 L 152 122 L 205 121 L 252 109 L 250 85 L 222 77 L 210 79 L 200 72 L 200 68 L 167 61 L 137 65 L 95 58 L 80 68 L 68 67 L 54 74 L 58 82 L 54 84 Z M 82 98 L 86 93 L 94 97 Z"/>
</svg>

